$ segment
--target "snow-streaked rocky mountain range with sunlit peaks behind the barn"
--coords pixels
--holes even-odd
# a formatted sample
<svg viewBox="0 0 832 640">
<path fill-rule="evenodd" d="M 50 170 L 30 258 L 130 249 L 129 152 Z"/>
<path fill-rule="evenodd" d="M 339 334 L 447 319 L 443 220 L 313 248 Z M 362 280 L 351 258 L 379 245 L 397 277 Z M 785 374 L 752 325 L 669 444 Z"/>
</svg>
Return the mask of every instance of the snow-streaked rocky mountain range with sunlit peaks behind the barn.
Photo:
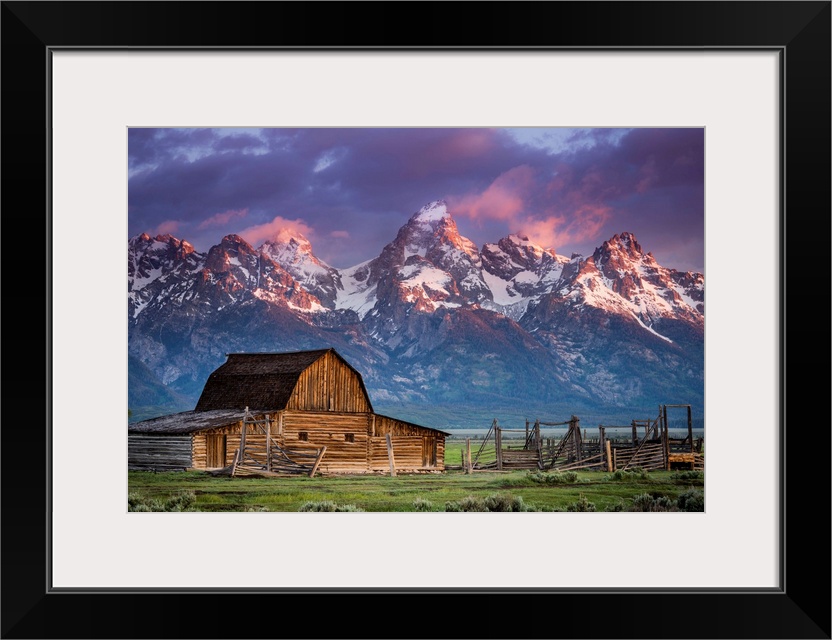
<svg viewBox="0 0 832 640">
<path fill-rule="evenodd" d="M 630 232 L 590 256 L 522 235 L 477 247 L 444 201 L 346 269 L 288 230 L 205 253 L 141 234 L 128 241 L 131 416 L 192 409 L 227 353 L 327 347 L 377 410 L 437 428 L 498 415 L 629 424 L 664 403 L 701 416 L 704 311 L 703 274 L 659 265 Z"/>
</svg>

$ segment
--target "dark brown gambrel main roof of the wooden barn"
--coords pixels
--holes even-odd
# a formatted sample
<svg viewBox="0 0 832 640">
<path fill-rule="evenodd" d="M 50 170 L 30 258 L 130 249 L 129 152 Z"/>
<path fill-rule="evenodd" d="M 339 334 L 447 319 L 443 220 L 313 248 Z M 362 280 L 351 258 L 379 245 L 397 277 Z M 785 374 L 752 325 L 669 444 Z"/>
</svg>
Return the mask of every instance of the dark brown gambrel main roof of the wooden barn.
<svg viewBox="0 0 832 640">
<path fill-rule="evenodd" d="M 284 409 L 300 375 L 318 358 L 332 352 L 358 376 L 361 390 L 370 402 L 361 374 L 335 349 L 283 353 L 229 353 L 225 364 L 205 383 L 196 411 L 214 409 L 273 411 Z M 372 411 L 372 405 L 370 406 Z"/>
</svg>

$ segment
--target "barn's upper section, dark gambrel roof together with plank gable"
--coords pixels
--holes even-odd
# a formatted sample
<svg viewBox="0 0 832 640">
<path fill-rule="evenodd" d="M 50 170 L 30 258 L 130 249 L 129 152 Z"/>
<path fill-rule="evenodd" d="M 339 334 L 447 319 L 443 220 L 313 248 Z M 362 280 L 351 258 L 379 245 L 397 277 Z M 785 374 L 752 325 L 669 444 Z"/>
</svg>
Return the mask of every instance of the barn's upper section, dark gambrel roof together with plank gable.
<svg viewBox="0 0 832 640">
<path fill-rule="evenodd" d="M 364 381 L 334 349 L 232 353 L 205 383 L 196 411 L 372 411 Z"/>
</svg>

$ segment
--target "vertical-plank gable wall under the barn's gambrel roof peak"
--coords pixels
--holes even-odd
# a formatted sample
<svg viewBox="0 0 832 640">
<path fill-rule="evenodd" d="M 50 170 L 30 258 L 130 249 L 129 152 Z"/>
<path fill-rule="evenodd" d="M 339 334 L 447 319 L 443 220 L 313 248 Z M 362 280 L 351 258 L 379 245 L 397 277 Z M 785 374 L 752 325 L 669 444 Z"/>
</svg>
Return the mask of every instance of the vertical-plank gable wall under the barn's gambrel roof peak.
<svg viewBox="0 0 832 640">
<path fill-rule="evenodd" d="M 370 401 L 358 374 L 335 354 L 325 353 L 300 375 L 286 408 L 366 413 Z"/>
</svg>

